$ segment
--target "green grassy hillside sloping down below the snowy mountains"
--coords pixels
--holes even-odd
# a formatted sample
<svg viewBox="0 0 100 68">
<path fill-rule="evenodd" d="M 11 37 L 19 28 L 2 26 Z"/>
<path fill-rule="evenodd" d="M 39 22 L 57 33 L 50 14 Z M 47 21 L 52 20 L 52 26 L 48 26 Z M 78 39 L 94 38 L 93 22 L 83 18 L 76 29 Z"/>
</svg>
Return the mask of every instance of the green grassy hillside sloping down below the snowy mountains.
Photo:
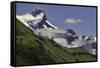
<svg viewBox="0 0 100 68">
<path fill-rule="evenodd" d="M 65 48 L 34 33 L 16 21 L 16 65 L 95 61 L 83 48 Z"/>
</svg>

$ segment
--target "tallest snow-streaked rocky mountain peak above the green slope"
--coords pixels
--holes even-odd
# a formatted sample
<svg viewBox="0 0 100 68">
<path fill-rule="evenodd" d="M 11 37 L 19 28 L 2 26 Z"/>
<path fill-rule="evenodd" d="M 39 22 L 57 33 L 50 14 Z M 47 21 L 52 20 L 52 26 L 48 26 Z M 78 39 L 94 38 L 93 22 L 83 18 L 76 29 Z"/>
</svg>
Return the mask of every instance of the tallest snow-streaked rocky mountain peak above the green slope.
<svg viewBox="0 0 100 68">
<path fill-rule="evenodd" d="M 45 12 L 40 9 L 35 9 L 32 13 L 26 13 L 25 15 L 17 15 L 17 18 L 22 21 L 26 26 L 33 29 L 52 28 L 57 29 L 52 25 L 45 15 Z"/>
</svg>

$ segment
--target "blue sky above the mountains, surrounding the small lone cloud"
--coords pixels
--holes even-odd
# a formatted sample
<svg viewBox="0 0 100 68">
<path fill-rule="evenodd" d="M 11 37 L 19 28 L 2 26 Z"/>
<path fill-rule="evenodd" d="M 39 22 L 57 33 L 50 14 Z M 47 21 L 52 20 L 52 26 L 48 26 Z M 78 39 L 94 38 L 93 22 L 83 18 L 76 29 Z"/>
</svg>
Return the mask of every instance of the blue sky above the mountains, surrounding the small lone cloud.
<svg viewBox="0 0 100 68">
<path fill-rule="evenodd" d="M 79 6 L 60 6 L 44 4 L 17 3 L 16 14 L 31 13 L 35 8 L 41 8 L 48 20 L 59 28 L 73 29 L 77 35 L 96 36 L 96 8 Z M 66 19 L 79 19 L 79 23 L 65 23 Z"/>
</svg>

